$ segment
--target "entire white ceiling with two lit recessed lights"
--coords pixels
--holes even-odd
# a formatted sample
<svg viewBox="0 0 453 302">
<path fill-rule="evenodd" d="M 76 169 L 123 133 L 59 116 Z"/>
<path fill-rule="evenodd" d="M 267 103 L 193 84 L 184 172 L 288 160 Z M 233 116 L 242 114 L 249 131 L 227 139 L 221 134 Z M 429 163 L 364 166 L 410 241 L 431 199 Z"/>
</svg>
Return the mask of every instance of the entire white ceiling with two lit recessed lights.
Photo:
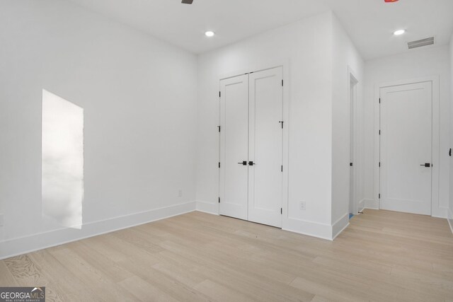
<svg viewBox="0 0 453 302">
<path fill-rule="evenodd" d="M 406 52 L 406 42 L 453 31 L 453 0 L 71 0 L 121 23 L 200 53 L 316 13 L 333 10 L 364 59 Z M 404 28 L 407 33 L 394 37 Z M 206 30 L 215 37 L 207 38 Z"/>
</svg>

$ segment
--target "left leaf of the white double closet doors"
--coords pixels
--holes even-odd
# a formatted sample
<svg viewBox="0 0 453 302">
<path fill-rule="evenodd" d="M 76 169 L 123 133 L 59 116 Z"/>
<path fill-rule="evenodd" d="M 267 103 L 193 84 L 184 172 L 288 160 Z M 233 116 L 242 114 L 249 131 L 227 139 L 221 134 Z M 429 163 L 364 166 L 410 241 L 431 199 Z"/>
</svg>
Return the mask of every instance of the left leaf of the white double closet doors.
<svg viewBox="0 0 453 302">
<path fill-rule="evenodd" d="M 247 219 L 248 75 L 220 81 L 220 91 L 219 213 Z"/>
</svg>

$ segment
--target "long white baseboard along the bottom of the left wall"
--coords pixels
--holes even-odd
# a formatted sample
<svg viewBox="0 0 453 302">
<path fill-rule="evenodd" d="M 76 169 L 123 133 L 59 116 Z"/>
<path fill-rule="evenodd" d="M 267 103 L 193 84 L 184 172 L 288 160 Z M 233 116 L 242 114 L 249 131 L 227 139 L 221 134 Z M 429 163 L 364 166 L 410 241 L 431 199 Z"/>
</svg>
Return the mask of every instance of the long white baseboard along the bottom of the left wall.
<svg viewBox="0 0 453 302">
<path fill-rule="evenodd" d="M 123 228 L 130 228 L 132 226 L 139 226 L 140 224 L 178 216 L 190 211 L 195 211 L 195 209 L 196 202 L 186 202 L 184 204 L 176 204 L 161 209 L 153 209 L 151 211 L 85 223 L 81 230 L 61 228 L 21 238 L 4 240 L 0 243 L 0 260 L 16 255 L 23 255 L 28 252 L 34 252 L 35 250 L 51 248 L 56 245 L 118 231 Z"/>
</svg>

